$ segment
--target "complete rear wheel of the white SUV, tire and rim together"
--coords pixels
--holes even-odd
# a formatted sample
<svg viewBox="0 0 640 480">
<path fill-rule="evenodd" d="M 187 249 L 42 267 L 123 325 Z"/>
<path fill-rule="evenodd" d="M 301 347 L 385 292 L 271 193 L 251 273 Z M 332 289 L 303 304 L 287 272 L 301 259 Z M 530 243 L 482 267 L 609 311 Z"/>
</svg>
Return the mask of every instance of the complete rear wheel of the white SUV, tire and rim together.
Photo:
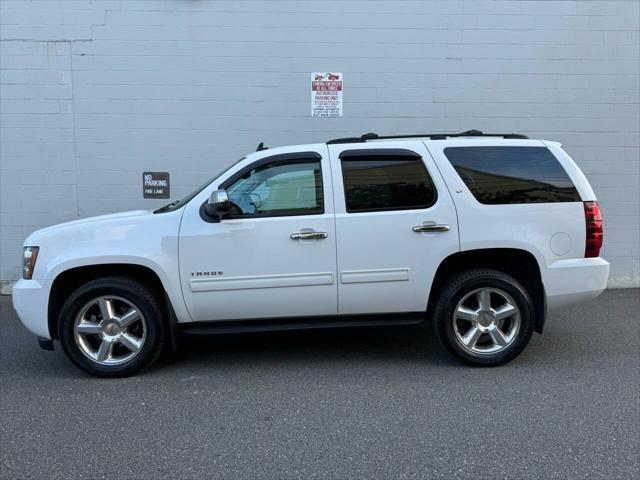
<svg viewBox="0 0 640 480">
<path fill-rule="evenodd" d="M 518 356 L 534 328 L 533 302 L 513 277 L 488 269 L 451 278 L 433 310 L 436 334 L 470 365 L 495 366 Z"/>
</svg>

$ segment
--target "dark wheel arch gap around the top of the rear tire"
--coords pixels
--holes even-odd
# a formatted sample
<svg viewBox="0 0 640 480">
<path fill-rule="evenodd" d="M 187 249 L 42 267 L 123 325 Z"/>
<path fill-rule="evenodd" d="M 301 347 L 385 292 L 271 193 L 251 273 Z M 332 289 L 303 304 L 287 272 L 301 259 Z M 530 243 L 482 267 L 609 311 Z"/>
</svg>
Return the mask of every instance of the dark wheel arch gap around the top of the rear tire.
<svg viewBox="0 0 640 480">
<path fill-rule="evenodd" d="M 546 295 L 540 266 L 531 252 L 517 248 L 464 250 L 446 257 L 438 266 L 431 285 L 427 303 L 428 317 L 438 292 L 447 280 L 456 273 L 472 268 L 491 268 L 518 280 L 531 295 L 535 308 L 535 331 L 542 333 L 546 318 Z"/>
</svg>

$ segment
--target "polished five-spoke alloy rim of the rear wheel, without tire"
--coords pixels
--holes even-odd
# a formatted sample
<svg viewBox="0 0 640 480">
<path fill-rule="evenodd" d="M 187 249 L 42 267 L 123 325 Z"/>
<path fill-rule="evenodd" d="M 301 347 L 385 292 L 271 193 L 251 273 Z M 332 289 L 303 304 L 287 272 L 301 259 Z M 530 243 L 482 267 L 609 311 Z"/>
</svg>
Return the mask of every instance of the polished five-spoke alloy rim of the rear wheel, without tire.
<svg viewBox="0 0 640 480">
<path fill-rule="evenodd" d="M 519 330 L 518 304 L 499 288 L 479 288 L 466 294 L 453 314 L 456 339 L 475 354 L 504 350 L 513 343 Z"/>
</svg>

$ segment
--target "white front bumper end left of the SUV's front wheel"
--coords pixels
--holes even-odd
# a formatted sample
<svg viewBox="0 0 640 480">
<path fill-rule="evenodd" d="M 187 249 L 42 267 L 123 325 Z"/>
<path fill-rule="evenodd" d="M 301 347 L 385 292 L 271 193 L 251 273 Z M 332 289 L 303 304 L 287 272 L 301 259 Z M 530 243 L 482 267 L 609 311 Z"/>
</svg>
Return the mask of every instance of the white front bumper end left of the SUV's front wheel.
<svg viewBox="0 0 640 480">
<path fill-rule="evenodd" d="M 48 283 L 43 285 L 37 280 L 20 279 L 13 286 L 11 294 L 13 308 L 23 325 L 38 337 L 48 340 L 51 339 L 48 322 L 49 287 Z"/>
</svg>

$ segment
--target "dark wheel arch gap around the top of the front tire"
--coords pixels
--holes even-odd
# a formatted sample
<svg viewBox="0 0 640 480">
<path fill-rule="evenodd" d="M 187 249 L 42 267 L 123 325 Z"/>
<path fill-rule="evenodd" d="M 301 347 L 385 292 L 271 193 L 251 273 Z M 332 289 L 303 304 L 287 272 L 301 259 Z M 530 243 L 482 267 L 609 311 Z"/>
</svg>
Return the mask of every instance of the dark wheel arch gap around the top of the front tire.
<svg viewBox="0 0 640 480">
<path fill-rule="evenodd" d="M 102 277 L 126 277 L 149 285 L 161 297 L 171 346 L 176 347 L 176 314 L 160 276 L 152 268 L 134 263 L 103 263 L 82 265 L 64 270 L 55 277 L 49 291 L 47 324 L 51 339 L 58 339 L 60 310 L 69 295 L 81 285 Z"/>
</svg>

